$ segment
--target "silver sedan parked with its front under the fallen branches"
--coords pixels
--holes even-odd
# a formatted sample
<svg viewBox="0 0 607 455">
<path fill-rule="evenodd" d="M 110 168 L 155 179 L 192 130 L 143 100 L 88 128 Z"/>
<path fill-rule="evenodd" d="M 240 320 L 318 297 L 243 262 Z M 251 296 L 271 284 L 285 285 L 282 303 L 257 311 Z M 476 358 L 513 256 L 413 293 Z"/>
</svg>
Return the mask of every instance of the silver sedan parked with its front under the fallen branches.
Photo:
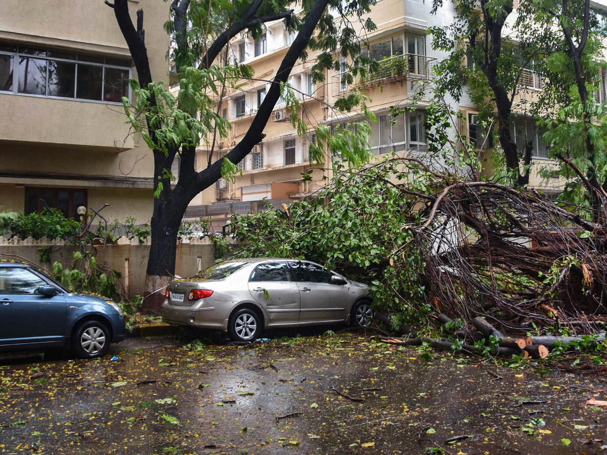
<svg viewBox="0 0 607 455">
<path fill-rule="evenodd" d="M 239 259 L 174 280 L 162 306 L 165 322 L 228 332 L 249 341 L 264 328 L 351 323 L 373 317 L 369 287 L 322 266 L 293 259 Z"/>
</svg>

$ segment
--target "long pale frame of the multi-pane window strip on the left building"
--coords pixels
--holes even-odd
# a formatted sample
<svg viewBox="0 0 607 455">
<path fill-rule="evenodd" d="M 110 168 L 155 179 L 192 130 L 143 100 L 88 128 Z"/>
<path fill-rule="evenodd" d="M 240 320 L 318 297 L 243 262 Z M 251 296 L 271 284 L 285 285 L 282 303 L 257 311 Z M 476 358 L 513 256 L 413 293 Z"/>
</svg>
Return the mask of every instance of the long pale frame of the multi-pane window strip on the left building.
<svg viewBox="0 0 607 455">
<path fill-rule="evenodd" d="M 4 44 L 4 43 L 1 43 Z M 12 86 L 12 90 L 0 90 L 0 93 L 11 93 L 12 95 L 19 95 L 19 96 L 34 96 L 37 98 L 50 98 L 50 99 L 69 99 L 72 101 L 83 101 L 86 103 L 103 103 L 103 104 L 113 104 L 113 105 L 122 105 L 121 101 L 104 101 L 103 96 L 105 93 L 105 86 L 106 86 L 106 68 L 109 69 L 118 69 L 118 70 L 127 70 L 129 72 L 129 79 L 132 79 L 133 76 L 133 69 L 132 69 L 132 59 L 131 58 L 126 58 L 124 56 L 108 56 L 108 55 L 99 55 L 98 57 L 103 58 L 104 62 L 103 63 L 98 63 L 98 62 L 91 62 L 91 61 L 86 61 L 84 59 L 79 59 L 80 56 L 85 56 L 85 57 L 92 57 L 92 54 L 86 53 L 86 52 L 78 52 L 77 50 L 62 50 L 62 49 L 54 49 L 54 48 L 50 48 L 50 47 L 44 47 L 44 48 L 40 48 L 41 50 L 44 50 L 45 55 L 33 55 L 33 54 L 29 54 L 29 53 L 22 53 L 20 52 L 21 49 L 28 49 L 30 46 L 28 45 L 15 45 L 15 51 L 10 51 L 10 50 L 3 50 L 0 48 L 0 55 L 5 55 L 5 56 L 10 56 L 12 57 L 13 60 L 13 86 Z M 32 45 L 31 47 L 36 47 L 35 45 Z M 60 57 L 52 57 L 49 56 L 49 52 L 70 52 L 73 53 L 74 58 L 73 59 L 69 59 L 69 58 L 60 58 Z M 44 95 L 39 95 L 36 93 L 21 93 L 19 92 L 19 58 L 35 58 L 35 59 L 41 59 L 41 60 L 45 60 L 47 62 L 49 61 L 56 61 L 56 62 L 64 62 L 64 63 L 70 63 L 74 65 L 74 87 L 73 87 L 73 97 L 66 97 L 66 96 L 52 96 L 52 95 L 48 95 L 49 92 L 49 64 L 46 64 L 46 81 L 45 81 L 45 86 L 44 86 L 44 90 L 45 90 L 45 94 Z M 125 60 L 129 60 L 131 61 L 131 66 L 126 67 L 126 66 L 117 66 L 117 65 L 112 65 L 112 64 L 107 64 L 105 63 L 105 59 L 125 59 Z M 97 66 L 97 67 L 101 67 L 101 98 L 102 99 L 86 99 L 86 98 L 76 98 L 76 93 L 77 93 L 77 87 L 78 87 L 78 64 L 83 64 L 83 65 L 87 65 L 87 66 Z M 132 89 L 131 89 L 131 84 L 127 84 L 127 96 L 129 99 L 132 99 Z"/>
</svg>

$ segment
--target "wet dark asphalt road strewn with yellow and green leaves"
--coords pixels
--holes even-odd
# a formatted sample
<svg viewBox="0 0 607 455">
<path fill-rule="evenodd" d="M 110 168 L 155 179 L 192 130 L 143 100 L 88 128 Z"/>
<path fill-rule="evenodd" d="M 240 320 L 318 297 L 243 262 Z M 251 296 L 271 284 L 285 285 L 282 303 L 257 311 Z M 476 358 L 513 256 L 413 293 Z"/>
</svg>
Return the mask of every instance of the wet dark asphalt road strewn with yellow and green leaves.
<svg viewBox="0 0 607 455">
<path fill-rule="evenodd" d="M 129 339 L 98 360 L 0 360 L 0 453 L 607 453 L 607 409 L 584 404 L 607 399 L 600 379 L 427 361 L 323 331 L 250 348 Z"/>
</svg>

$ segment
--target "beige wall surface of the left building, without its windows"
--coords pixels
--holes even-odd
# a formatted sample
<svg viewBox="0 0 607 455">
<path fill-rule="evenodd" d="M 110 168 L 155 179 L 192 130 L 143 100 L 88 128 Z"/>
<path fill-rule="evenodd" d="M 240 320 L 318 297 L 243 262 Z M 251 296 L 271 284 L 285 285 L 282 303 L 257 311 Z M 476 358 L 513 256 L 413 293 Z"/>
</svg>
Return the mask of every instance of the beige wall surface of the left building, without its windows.
<svg viewBox="0 0 607 455">
<path fill-rule="evenodd" d="M 114 10 L 103 1 L 5 0 L 3 7 L 2 43 L 130 59 Z M 169 7 L 129 0 L 134 22 L 144 10 L 155 80 L 168 80 Z M 154 161 L 120 103 L 2 92 L 0 104 L 0 209 L 24 210 L 22 186 L 87 188 L 90 206 L 103 200 L 112 217 L 149 220 Z"/>
</svg>

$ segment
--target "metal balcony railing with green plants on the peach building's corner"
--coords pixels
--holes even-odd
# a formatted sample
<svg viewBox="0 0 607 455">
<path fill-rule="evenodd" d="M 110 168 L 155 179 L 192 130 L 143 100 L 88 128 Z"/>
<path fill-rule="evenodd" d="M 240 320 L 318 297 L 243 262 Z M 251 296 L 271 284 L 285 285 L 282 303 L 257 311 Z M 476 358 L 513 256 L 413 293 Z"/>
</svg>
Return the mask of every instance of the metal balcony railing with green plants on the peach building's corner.
<svg viewBox="0 0 607 455">
<path fill-rule="evenodd" d="M 333 86 L 333 96 L 354 89 L 364 89 L 365 87 L 378 86 L 379 84 L 388 84 L 391 82 L 409 79 L 409 80 L 428 80 L 432 78 L 436 58 L 426 55 L 405 54 L 395 55 L 379 61 L 379 69 L 376 72 L 368 72 L 364 78 L 357 77 L 353 84 L 347 84 L 343 81 L 347 71 L 333 75 L 331 85 Z"/>
</svg>

